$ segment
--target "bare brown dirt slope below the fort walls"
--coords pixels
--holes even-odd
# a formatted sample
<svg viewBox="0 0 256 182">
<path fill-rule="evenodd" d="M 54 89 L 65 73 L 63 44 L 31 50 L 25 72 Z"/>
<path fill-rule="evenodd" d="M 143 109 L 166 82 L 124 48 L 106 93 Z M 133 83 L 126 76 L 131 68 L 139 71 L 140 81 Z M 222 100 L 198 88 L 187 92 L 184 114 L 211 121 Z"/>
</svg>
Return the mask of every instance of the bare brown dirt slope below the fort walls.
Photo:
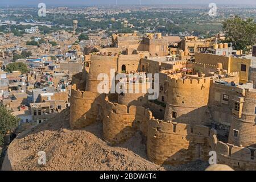
<svg viewBox="0 0 256 182">
<path fill-rule="evenodd" d="M 143 159 L 146 158 L 143 152 L 139 154 L 141 157 L 127 150 L 126 144 L 122 147 L 109 146 L 98 138 L 101 137 L 100 124 L 84 130 L 70 130 L 68 121 L 67 109 L 41 123 L 34 131 L 18 135 L 8 148 L 2 169 L 164 170 Z M 38 164 L 39 151 L 46 152 L 46 166 Z"/>
</svg>

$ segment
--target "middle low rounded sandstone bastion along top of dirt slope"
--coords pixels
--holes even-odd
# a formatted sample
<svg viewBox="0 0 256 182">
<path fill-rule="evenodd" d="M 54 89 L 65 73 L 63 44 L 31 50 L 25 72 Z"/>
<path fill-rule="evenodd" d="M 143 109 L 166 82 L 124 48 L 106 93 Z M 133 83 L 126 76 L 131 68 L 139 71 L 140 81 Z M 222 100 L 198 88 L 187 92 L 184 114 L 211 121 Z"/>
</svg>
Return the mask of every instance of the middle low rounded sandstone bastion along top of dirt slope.
<svg viewBox="0 0 256 182">
<path fill-rule="evenodd" d="M 104 113 L 103 136 L 110 143 L 125 142 L 137 131 L 146 135 L 148 121 L 152 118 L 151 111 L 142 106 L 127 107 L 109 101 Z"/>
</svg>

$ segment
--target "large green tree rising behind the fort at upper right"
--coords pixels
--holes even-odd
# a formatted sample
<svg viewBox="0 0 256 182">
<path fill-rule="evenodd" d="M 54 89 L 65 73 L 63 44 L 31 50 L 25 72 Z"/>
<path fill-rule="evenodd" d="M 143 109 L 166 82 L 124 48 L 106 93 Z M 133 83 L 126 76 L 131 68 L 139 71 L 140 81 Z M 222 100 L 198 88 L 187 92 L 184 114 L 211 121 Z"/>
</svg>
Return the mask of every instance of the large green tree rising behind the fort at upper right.
<svg viewBox="0 0 256 182">
<path fill-rule="evenodd" d="M 223 30 L 226 34 L 226 42 L 232 42 L 236 49 L 249 51 L 256 43 L 256 23 L 251 18 L 244 20 L 235 16 L 226 19 L 223 22 Z"/>
</svg>

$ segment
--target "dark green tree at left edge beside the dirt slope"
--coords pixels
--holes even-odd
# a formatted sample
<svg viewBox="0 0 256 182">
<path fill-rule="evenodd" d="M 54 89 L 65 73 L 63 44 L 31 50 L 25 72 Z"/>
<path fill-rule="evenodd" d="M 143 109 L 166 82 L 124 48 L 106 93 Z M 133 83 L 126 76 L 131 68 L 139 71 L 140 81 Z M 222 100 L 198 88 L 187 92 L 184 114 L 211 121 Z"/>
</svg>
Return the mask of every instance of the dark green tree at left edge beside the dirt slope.
<svg viewBox="0 0 256 182">
<path fill-rule="evenodd" d="M 7 132 L 14 130 L 18 122 L 19 118 L 16 118 L 6 106 L 0 104 L 0 146 L 3 146 L 3 139 Z"/>
</svg>

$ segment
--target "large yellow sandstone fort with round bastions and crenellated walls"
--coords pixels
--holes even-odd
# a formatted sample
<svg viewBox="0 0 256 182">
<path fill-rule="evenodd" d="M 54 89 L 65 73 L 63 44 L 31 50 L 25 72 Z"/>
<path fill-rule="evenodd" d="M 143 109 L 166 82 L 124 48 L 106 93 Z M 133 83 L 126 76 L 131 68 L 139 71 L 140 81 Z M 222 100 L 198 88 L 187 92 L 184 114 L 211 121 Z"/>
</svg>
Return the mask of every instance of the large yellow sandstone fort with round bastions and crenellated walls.
<svg viewBox="0 0 256 182">
<path fill-rule="evenodd" d="M 116 35 L 113 44 L 120 46 L 123 36 L 137 39 Z M 73 76 L 72 128 L 102 122 L 104 139 L 113 144 L 141 132 L 148 159 L 157 164 L 208 161 L 209 152 L 216 151 L 217 163 L 256 169 L 256 89 L 247 82 L 250 59 L 196 52 L 195 61 L 180 61 L 150 56 L 150 49 L 119 46 L 90 55 L 88 67 Z M 159 98 L 148 100 L 150 94 L 140 89 L 136 94 L 98 93 L 98 74 L 112 76 L 111 69 L 115 75 L 159 73 Z M 141 88 L 143 83 L 137 84 Z"/>
</svg>

